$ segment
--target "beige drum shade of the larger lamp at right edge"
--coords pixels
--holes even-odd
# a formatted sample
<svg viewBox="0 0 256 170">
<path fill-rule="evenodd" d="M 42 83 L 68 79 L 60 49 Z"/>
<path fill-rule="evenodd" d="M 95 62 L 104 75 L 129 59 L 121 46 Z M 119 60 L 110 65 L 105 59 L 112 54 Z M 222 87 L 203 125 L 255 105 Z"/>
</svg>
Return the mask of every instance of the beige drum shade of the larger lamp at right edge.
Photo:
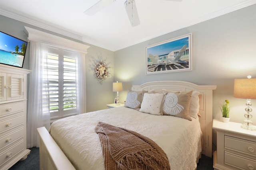
<svg viewBox="0 0 256 170">
<path fill-rule="evenodd" d="M 256 99 L 256 78 L 235 79 L 234 97 Z"/>
</svg>

